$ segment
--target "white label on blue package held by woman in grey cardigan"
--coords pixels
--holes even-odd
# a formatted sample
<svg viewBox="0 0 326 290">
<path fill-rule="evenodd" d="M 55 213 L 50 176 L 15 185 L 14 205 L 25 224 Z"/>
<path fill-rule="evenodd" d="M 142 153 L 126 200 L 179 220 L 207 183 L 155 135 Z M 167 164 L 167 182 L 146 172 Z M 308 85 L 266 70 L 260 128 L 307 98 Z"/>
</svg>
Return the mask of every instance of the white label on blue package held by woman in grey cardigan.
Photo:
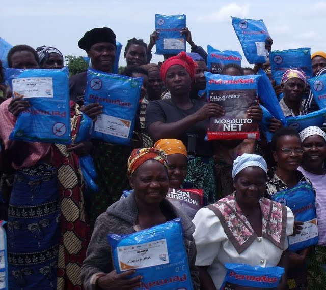
<svg viewBox="0 0 326 290">
<path fill-rule="evenodd" d="M 117 253 L 121 271 L 169 264 L 166 239 L 139 245 L 117 247 Z"/>
</svg>

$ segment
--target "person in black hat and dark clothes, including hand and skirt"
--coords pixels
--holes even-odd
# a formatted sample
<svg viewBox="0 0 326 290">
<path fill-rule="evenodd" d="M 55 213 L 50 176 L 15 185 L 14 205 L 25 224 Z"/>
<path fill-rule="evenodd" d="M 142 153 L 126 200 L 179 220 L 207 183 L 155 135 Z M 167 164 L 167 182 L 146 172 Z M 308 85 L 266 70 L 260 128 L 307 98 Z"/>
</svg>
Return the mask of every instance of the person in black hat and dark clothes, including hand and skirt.
<svg viewBox="0 0 326 290">
<path fill-rule="evenodd" d="M 116 35 L 107 27 L 94 28 L 88 31 L 78 46 L 84 49 L 92 62 L 92 68 L 105 73 L 111 73 L 116 56 Z M 87 72 L 73 76 L 70 79 L 70 100 L 79 105 L 84 104 L 86 92 Z M 102 113 L 103 106 L 91 103 L 82 107 L 93 121 Z M 120 199 L 122 191 L 129 188 L 126 175 L 126 164 L 133 149 L 132 146 L 105 143 L 101 140 L 92 140 L 92 157 L 98 178 L 96 184 L 99 191 L 90 197 L 91 225 L 96 218 L 106 211 L 107 207 Z"/>
</svg>

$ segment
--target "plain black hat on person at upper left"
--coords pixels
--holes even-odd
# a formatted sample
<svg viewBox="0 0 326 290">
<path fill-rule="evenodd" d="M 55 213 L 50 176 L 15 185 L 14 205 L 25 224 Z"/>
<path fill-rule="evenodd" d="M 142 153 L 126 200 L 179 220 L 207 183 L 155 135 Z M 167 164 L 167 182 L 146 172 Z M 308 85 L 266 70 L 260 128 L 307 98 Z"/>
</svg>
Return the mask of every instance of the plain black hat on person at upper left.
<svg viewBox="0 0 326 290">
<path fill-rule="evenodd" d="M 99 42 L 110 42 L 116 46 L 116 35 L 112 29 L 108 27 L 94 28 L 87 31 L 87 33 L 78 41 L 78 46 L 88 52 L 93 44 Z"/>
</svg>

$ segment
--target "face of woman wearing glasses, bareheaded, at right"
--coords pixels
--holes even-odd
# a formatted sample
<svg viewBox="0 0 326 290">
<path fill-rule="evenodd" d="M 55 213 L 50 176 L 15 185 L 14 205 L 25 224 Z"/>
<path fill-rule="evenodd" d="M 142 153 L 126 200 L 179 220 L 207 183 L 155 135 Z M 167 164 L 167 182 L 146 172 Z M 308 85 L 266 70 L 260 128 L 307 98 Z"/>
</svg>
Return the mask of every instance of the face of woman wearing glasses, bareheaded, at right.
<svg viewBox="0 0 326 290">
<path fill-rule="evenodd" d="M 289 172 L 295 171 L 302 161 L 303 151 L 300 151 L 302 151 L 301 140 L 297 136 L 281 136 L 276 151 L 273 152 L 277 167 Z"/>
</svg>

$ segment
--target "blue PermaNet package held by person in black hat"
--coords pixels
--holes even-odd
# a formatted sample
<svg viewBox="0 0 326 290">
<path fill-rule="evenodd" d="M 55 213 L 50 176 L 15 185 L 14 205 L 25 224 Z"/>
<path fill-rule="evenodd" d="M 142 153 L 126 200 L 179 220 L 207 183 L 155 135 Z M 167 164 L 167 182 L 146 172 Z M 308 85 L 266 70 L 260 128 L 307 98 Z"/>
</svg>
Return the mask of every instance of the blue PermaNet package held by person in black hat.
<svg viewBox="0 0 326 290">
<path fill-rule="evenodd" d="M 104 107 L 94 123 L 92 138 L 113 144 L 131 143 L 142 83 L 142 78 L 87 70 L 84 104 Z"/>
</svg>

